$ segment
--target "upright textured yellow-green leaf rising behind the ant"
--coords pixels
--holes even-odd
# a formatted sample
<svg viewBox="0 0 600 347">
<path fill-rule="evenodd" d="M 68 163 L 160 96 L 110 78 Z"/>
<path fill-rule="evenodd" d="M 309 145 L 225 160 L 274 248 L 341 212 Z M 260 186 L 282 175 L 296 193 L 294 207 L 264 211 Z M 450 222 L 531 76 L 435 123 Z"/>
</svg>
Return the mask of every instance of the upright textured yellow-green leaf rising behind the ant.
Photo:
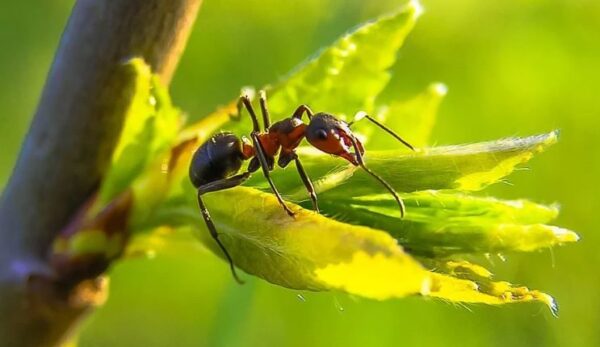
<svg viewBox="0 0 600 347">
<path fill-rule="evenodd" d="M 387 85 L 396 52 L 422 9 L 417 2 L 360 26 L 292 72 L 270 99 L 275 114 L 291 114 L 291 105 L 308 103 L 315 111 L 337 115 L 371 112 Z"/>
</svg>

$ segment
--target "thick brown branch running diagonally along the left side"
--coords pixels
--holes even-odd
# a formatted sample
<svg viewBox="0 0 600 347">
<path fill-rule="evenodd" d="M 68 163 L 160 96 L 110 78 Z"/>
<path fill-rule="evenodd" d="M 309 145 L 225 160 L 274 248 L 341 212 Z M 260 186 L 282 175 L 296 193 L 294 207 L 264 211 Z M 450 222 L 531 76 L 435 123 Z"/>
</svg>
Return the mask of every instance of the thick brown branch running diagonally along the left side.
<svg viewBox="0 0 600 347">
<path fill-rule="evenodd" d="M 76 3 L 0 201 L 0 344 L 56 345 L 97 301 L 97 281 L 74 299 L 36 276 L 107 171 L 131 82 L 120 64 L 141 56 L 168 84 L 200 2 Z"/>
</svg>

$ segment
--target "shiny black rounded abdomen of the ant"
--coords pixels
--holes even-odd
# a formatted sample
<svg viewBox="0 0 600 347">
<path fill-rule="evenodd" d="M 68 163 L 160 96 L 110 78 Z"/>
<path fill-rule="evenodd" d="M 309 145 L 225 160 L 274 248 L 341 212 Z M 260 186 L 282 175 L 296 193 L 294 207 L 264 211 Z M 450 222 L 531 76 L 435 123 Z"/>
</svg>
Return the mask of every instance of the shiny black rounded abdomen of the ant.
<svg viewBox="0 0 600 347">
<path fill-rule="evenodd" d="M 230 132 L 214 135 L 192 157 L 190 180 L 198 188 L 235 175 L 244 161 L 242 141 Z"/>
</svg>

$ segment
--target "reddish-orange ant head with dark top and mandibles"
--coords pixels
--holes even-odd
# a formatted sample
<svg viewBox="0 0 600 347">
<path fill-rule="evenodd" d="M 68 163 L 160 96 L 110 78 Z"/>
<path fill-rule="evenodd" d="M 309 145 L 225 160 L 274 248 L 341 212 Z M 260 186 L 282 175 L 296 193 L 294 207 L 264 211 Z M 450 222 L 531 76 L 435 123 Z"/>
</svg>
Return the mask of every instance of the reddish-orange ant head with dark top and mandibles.
<svg viewBox="0 0 600 347">
<path fill-rule="evenodd" d="M 317 149 L 340 156 L 353 165 L 359 163 L 352 152 L 352 142 L 356 143 L 356 149 L 361 154 L 365 152 L 362 143 L 354 136 L 348 124 L 327 113 L 317 113 L 311 118 L 306 127 L 306 139 Z"/>
</svg>

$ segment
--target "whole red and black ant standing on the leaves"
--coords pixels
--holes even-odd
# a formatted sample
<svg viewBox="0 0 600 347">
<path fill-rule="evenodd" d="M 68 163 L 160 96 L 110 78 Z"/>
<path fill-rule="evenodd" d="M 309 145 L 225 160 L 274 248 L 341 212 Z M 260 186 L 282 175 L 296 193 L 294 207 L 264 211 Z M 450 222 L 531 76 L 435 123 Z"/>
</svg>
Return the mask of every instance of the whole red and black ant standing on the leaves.
<svg viewBox="0 0 600 347">
<path fill-rule="evenodd" d="M 298 174 L 308 191 L 314 210 L 319 213 L 315 189 L 296 154 L 296 148 L 300 145 L 302 139 L 306 138 L 317 149 L 344 158 L 352 165 L 360 166 L 369 175 L 373 176 L 392 194 L 400 208 L 400 215 L 404 217 L 405 208 L 402 199 L 400 199 L 392 186 L 366 167 L 364 161 L 365 149 L 361 141 L 350 130 L 350 126 L 356 121 L 366 118 L 402 142 L 405 146 L 414 150 L 408 142 L 396 135 L 391 129 L 377 122 L 364 112 L 357 114 L 354 121 L 346 123 L 328 113 L 319 112 L 314 114 L 307 105 L 300 105 L 291 117 L 271 124 L 266 94 L 264 91 L 260 91 L 259 95 L 264 129 L 262 131 L 260 129 L 250 98 L 247 95 L 242 95 L 237 103 L 236 117 L 238 119 L 241 117 L 242 108 L 245 107 L 252 119 L 253 129 L 250 133 L 250 140 L 246 137 L 240 139 L 230 132 L 218 133 L 196 150 L 189 170 L 190 180 L 198 190 L 198 205 L 206 226 L 212 238 L 217 242 L 227 258 L 233 277 L 240 284 L 243 281 L 237 276 L 233 260 L 225 246 L 219 240 L 217 229 L 202 201 L 202 195 L 239 186 L 260 167 L 275 197 L 285 212 L 293 217 L 294 212 L 285 204 L 269 175 L 269 172 L 274 168 L 274 158 L 279 153 L 277 165 L 285 168 L 290 162 L 294 161 Z M 308 124 L 302 121 L 304 114 L 308 117 Z M 248 168 L 246 172 L 238 174 L 244 160 L 250 160 Z"/>
</svg>

